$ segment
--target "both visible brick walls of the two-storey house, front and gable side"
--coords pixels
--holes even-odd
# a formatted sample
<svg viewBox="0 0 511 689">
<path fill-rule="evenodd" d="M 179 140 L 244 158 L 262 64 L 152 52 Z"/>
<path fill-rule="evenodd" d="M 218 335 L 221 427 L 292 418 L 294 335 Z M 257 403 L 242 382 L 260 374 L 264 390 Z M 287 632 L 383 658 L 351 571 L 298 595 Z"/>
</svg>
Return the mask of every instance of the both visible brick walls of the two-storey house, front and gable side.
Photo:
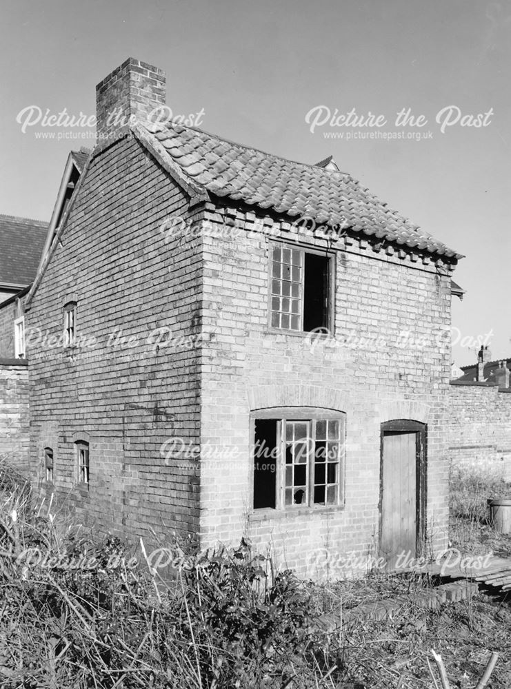
<svg viewBox="0 0 511 689">
<path fill-rule="evenodd" d="M 59 336 L 63 304 L 74 298 L 79 334 L 99 344 L 72 359 L 43 342 L 29 349 L 34 480 L 50 445 L 59 502 L 103 529 L 144 537 L 151 528 L 163 536 L 200 531 L 205 546 L 249 535 L 259 548 L 271 544 L 281 564 L 323 576 L 314 563 L 325 551 L 375 553 L 380 424 L 405 418 L 428 425 L 428 542 L 443 547 L 449 271 L 410 252 L 343 240 L 337 341 L 352 332 L 380 342 L 312 351 L 302 335 L 268 331 L 268 241 L 253 232 L 254 215 L 208 205 L 223 238 L 208 236 L 205 225 L 203 240 L 170 233 L 166 242 L 163 220 L 186 213 L 186 196 L 136 141 L 94 158 L 28 322 Z M 279 223 L 277 232 L 286 236 Z M 165 325 L 198 337 L 200 349 L 106 346 L 116 329 L 142 341 Z M 346 414 L 343 506 L 264 518 L 252 511 L 249 416 L 285 405 Z M 201 444 L 200 505 L 198 463 L 168 452 L 176 438 Z M 77 486 L 78 439 L 90 442 L 89 491 Z"/>
</svg>

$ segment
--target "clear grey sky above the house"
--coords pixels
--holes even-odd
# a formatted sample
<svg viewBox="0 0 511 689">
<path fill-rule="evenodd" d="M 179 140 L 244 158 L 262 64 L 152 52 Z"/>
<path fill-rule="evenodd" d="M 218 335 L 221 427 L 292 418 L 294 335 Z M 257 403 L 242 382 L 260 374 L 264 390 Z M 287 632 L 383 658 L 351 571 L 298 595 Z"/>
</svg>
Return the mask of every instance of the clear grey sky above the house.
<svg viewBox="0 0 511 689">
<path fill-rule="evenodd" d="M 206 131 L 294 161 L 333 155 L 463 254 L 453 360 L 474 362 L 481 342 L 511 357 L 511 0 L 0 0 L 0 12 L 0 213 L 50 219 L 68 152 L 92 147 L 94 128 L 42 115 L 94 115 L 95 85 L 131 56 L 166 71 L 174 115 L 203 111 Z M 336 109 L 359 120 L 332 124 Z M 413 120 L 396 125 L 399 112 Z"/>
</svg>

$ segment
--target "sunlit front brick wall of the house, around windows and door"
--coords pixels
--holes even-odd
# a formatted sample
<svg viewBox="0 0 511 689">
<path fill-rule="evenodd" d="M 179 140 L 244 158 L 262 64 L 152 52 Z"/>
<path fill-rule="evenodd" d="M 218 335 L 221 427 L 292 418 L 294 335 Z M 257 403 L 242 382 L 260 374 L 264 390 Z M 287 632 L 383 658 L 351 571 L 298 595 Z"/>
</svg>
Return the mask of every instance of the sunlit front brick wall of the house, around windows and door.
<svg viewBox="0 0 511 689">
<path fill-rule="evenodd" d="M 245 221 L 234 210 L 210 218 L 217 234 L 222 227 L 225 234 L 205 240 L 204 251 L 203 329 L 212 341 L 203 353 L 201 442 L 211 457 L 201 463 L 203 542 L 236 542 L 248 534 L 259 548 L 271 546 L 281 564 L 316 576 L 325 574 L 323 566 L 314 566 L 318 551 L 320 560 L 325 550 L 330 556 L 374 553 L 380 424 L 407 418 L 428 424 L 428 540 L 442 548 L 448 521 L 442 435 L 450 375 L 442 336 L 450 327 L 447 271 L 437 274 L 420 259 L 348 243 L 335 258 L 337 340 L 353 331 L 384 343 L 359 351 L 323 345 L 311 351 L 303 336 L 268 329 L 265 238 L 243 230 L 229 237 L 229 227 Z M 422 338 L 423 346 L 398 347 L 401 331 Z M 281 406 L 346 413 L 345 506 L 269 517 L 252 511 L 249 413 Z"/>
</svg>

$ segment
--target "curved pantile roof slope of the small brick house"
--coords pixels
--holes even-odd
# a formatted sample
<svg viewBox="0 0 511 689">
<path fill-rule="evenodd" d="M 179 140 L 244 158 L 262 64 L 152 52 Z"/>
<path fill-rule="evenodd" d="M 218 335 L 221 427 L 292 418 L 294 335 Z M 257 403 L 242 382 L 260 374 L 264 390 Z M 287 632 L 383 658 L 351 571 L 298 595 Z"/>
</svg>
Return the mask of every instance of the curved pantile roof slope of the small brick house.
<svg viewBox="0 0 511 689">
<path fill-rule="evenodd" d="M 306 165 L 174 123 L 150 127 L 183 174 L 215 196 L 242 200 L 288 216 L 350 228 L 449 258 L 463 258 L 391 210 L 326 158 Z"/>
</svg>

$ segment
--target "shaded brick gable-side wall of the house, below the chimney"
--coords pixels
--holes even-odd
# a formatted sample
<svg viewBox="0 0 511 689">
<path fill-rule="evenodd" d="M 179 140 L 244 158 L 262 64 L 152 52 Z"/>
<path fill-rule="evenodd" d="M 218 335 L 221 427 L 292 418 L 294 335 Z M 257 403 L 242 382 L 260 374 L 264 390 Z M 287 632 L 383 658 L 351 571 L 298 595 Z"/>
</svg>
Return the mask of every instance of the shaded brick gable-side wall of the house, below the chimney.
<svg viewBox="0 0 511 689">
<path fill-rule="evenodd" d="M 198 466 L 166 463 L 160 450 L 173 434 L 198 442 L 199 354 L 148 342 L 159 327 L 178 345 L 200 328 L 199 240 L 166 243 L 159 232 L 186 204 L 136 140 L 103 150 L 27 314 L 43 335 L 28 349 L 34 483 L 51 489 L 42 480 L 51 446 L 57 504 L 103 531 L 152 539 L 152 529 L 198 528 Z M 66 300 L 77 300 L 77 335 L 86 338 L 73 357 L 48 344 L 61 336 Z M 77 484 L 76 440 L 90 442 L 89 490 Z"/>
</svg>

